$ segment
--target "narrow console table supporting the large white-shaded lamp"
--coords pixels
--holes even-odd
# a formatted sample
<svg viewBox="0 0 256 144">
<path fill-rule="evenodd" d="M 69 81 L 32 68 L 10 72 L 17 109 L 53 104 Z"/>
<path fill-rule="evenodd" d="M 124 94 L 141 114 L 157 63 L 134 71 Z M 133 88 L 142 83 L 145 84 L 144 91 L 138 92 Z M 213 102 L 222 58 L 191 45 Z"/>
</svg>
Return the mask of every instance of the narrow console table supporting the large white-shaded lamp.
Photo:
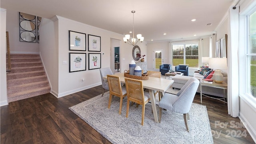
<svg viewBox="0 0 256 144">
<path fill-rule="evenodd" d="M 202 103 L 202 95 L 206 96 L 206 97 L 209 97 L 209 98 L 212 98 L 212 99 L 218 99 L 218 98 L 215 98 L 215 97 L 210 97 L 208 95 L 205 95 L 205 94 L 202 94 L 202 86 L 208 86 L 208 87 L 212 87 L 212 88 L 220 88 L 220 89 L 223 89 L 223 93 L 224 95 L 226 95 L 226 92 L 225 90 L 228 89 L 228 84 L 225 83 L 225 82 L 222 82 L 221 84 L 218 84 L 216 82 L 212 82 L 211 83 L 207 83 L 207 82 L 204 82 L 202 79 L 200 80 L 200 99 L 201 99 L 201 103 Z M 224 98 L 225 99 L 225 98 Z M 223 101 L 224 103 L 227 103 L 226 101 L 222 100 L 222 99 L 218 99 L 219 101 Z"/>
</svg>

